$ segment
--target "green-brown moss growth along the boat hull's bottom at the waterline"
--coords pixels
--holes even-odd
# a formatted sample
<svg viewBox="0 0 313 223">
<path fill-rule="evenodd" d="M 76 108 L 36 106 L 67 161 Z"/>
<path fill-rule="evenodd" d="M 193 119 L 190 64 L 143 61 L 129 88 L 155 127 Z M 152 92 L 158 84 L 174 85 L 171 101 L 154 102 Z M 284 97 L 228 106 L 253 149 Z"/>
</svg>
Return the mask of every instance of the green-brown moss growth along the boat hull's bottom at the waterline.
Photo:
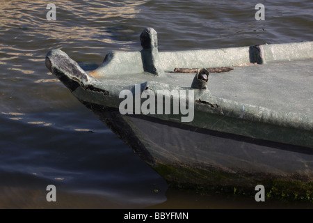
<svg viewBox="0 0 313 223">
<path fill-rule="evenodd" d="M 282 180 L 257 174 L 232 174 L 214 169 L 175 167 L 159 164 L 155 170 L 170 187 L 193 190 L 200 194 L 222 193 L 255 197 L 256 185 L 264 185 L 266 199 L 308 201 L 313 203 L 313 182 Z"/>
</svg>

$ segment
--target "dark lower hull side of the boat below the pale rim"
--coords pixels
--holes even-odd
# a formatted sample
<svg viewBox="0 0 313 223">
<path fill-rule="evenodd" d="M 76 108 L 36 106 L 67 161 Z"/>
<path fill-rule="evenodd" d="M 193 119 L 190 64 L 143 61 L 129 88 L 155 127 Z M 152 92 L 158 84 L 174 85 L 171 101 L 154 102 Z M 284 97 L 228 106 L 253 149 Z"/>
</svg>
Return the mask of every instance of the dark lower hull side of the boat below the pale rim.
<svg viewBox="0 0 313 223">
<path fill-rule="evenodd" d="M 313 152 L 303 146 L 257 140 L 83 102 L 173 187 L 269 197 L 312 195 Z"/>
</svg>

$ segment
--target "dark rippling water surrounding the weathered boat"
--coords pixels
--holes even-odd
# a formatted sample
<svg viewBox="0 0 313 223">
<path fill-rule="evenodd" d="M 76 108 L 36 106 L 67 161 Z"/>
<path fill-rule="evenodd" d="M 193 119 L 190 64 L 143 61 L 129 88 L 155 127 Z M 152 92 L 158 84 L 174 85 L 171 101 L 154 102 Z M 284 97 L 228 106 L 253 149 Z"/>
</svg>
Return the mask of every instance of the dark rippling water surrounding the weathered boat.
<svg viewBox="0 0 313 223">
<path fill-rule="evenodd" d="M 309 0 L 1 0 L 0 208 L 312 208 L 169 189 L 45 67 L 58 48 L 95 68 L 111 50 L 140 50 L 145 27 L 157 30 L 159 51 L 172 51 L 312 41 L 312 21 Z"/>
</svg>

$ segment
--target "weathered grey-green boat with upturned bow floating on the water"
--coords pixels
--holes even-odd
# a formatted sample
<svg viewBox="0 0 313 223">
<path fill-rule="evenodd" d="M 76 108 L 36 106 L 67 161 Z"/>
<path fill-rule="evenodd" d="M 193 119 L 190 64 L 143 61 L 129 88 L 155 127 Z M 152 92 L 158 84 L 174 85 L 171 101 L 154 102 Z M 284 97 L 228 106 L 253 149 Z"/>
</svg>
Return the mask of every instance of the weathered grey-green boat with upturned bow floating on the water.
<svg viewBox="0 0 313 223">
<path fill-rule="evenodd" d="M 154 29 L 140 38 L 92 71 L 60 49 L 46 66 L 171 185 L 312 200 L 313 42 L 159 52 Z"/>
</svg>

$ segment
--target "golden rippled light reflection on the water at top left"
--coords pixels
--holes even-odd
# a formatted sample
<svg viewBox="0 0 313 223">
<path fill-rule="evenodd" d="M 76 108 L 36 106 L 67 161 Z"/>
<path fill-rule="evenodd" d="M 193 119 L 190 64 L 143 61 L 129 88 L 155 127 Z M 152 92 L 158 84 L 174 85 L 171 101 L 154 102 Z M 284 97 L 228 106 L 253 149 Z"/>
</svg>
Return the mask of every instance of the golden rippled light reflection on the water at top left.
<svg viewBox="0 0 313 223">
<path fill-rule="evenodd" d="M 139 8 L 145 1 L 58 1 L 56 4 L 56 21 L 48 21 L 46 6 L 50 1 L 1 1 L 0 26 L 5 31 L 26 34 L 27 36 L 44 36 L 46 40 L 59 41 L 99 41 L 114 44 L 112 32 L 107 25 L 122 24 L 133 19 L 141 12 Z M 125 29 L 122 33 L 132 32 Z M 113 34 L 115 33 L 115 34 Z M 24 40 L 29 40 L 24 39 Z M 31 41 L 31 40 L 29 40 Z M 131 44 L 131 41 L 129 43 Z"/>
</svg>

